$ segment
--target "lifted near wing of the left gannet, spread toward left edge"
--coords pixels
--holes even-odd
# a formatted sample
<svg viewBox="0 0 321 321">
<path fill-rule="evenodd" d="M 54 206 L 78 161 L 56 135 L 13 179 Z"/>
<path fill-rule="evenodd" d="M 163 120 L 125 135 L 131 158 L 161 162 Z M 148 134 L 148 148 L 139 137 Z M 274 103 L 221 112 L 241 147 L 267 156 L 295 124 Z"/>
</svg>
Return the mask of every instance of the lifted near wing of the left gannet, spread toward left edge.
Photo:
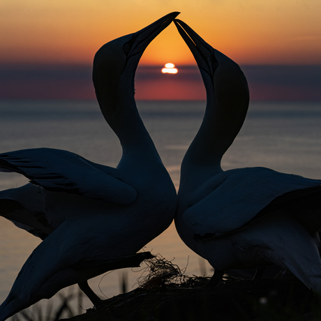
<svg viewBox="0 0 321 321">
<path fill-rule="evenodd" d="M 0 154 L 0 171 L 17 172 L 47 191 L 84 195 L 112 202 L 132 204 L 135 188 L 117 178 L 117 170 L 60 149 L 24 149 Z"/>
</svg>

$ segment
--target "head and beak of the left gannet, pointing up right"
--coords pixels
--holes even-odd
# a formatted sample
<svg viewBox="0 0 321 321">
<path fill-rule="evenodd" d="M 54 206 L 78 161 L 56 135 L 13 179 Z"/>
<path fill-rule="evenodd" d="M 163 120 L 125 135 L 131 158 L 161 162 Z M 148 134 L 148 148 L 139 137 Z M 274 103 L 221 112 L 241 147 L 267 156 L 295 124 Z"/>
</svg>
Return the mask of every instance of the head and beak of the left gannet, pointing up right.
<svg viewBox="0 0 321 321">
<path fill-rule="evenodd" d="M 134 95 L 135 70 L 151 40 L 156 38 L 179 13 L 169 13 L 135 33 L 114 39 L 100 47 L 94 58 L 93 82 L 99 100 L 117 95 Z"/>
</svg>

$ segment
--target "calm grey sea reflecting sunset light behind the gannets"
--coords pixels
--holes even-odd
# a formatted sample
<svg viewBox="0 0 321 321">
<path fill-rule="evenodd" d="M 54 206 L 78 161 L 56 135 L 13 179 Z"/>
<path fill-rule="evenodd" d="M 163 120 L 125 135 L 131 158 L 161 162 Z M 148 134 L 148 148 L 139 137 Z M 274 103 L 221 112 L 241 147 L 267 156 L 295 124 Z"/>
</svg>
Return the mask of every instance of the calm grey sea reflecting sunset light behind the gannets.
<svg viewBox="0 0 321 321">
<path fill-rule="evenodd" d="M 204 101 L 137 102 L 177 189 L 181 160 L 200 127 L 205 105 Z M 121 158 L 119 140 L 94 100 L 0 100 L 0 153 L 37 147 L 73 151 L 113 167 Z M 229 170 L 253 166 L 321 179 L 321 102 L 252 102 L 222 167 Z M 27 179 L 19 174 L 0 173 L 1 190 L 24 184 Z M 0 302 L 6 299 L 22 265 L 38 244 L 39 239 L 0 217 Z M 174 224 L 147 244 L 144 251 L 176 264 L 188 276 L 213 274 L 208 262 L 181 241 Z M 89 284 L 105 299 L 121 293 L 123 280 L 126 291 L 137 288 L 137 281 L 147 273 L 143 264 L 98 276 Z M 63 294 L 49 301 L 57 305 L 66 291 L 73 290 L 63 290 Z M 48 306 L 48 301 L 42 300 L 38 305 Z M 82 312 L 92 307 L 87 299 L 75 305 Z"/>
</svg>

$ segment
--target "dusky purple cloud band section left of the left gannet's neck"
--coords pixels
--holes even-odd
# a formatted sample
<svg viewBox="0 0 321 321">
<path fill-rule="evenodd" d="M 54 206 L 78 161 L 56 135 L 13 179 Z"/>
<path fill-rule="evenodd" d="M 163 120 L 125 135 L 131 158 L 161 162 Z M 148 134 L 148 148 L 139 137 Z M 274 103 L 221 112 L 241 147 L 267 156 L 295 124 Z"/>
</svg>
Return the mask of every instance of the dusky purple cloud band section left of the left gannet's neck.
<svg viewBox="0 0 321 321">
<path fill-rule="evenodd" d="M 2 99 L 93 99 L 91 66 L 0 65 Z"/>
</svg>

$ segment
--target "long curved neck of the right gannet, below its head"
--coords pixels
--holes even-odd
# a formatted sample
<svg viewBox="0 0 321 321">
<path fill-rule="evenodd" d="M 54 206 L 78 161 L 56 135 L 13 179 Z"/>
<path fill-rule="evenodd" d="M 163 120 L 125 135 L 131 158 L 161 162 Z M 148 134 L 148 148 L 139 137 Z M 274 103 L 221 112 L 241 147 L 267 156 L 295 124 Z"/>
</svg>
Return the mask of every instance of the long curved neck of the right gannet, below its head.
<svg viewBox="0 0 321 321">
<path fill-rule="evenodd" d="M 236 105 L 235 99 L 218 99 L 211 80 L 204 81 L 204 84 L 207 87 L 207 106 L 202 125 L 181 163 L 180 189 L 192 184 L 197 188 L 223 171 L 221 159 L 246 117 L 247 107 Z"/>
</svg>

